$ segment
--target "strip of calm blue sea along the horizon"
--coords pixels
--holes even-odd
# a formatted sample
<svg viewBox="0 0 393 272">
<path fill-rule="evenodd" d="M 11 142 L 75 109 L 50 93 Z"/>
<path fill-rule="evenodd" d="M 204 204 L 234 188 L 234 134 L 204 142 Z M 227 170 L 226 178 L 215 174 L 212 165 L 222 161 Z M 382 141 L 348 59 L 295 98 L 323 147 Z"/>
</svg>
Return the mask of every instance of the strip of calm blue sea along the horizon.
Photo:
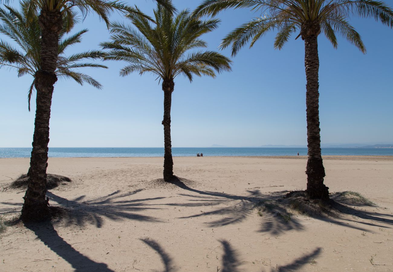
<svg viewBox="0 0 393 272">
<path fill-rule="evenodd" d="M 296 156 L 307 148 L 173 147 L 173 156 Z M 0 158 L 29 158 L 31 148 L 0 148 Z M 162 157 L 163 147 L 51 147 L 50 157 Z M 393 156 L 393 148 L 322 148 L 322 155 Z"/>
</svg>

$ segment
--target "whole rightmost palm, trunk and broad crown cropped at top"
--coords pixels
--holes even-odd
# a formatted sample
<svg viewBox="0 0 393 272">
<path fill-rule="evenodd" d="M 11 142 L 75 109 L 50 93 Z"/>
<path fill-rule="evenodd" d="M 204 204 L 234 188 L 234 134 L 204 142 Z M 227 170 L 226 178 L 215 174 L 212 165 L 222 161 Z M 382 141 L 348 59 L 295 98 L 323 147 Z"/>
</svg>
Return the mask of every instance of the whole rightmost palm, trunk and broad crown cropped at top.
<svg viewBox="0 0 393 272">
<path fill-rule="evenodd" d="M 250 40 L 250 48 L 268 31 L 277 29 L 274 48 L 281 49 L 289 37 L 299 31 L 305 42 L 306 106 L 307 106 L 307 194 L 310 198 L 329 199 L 329 188 L 323 184 L 325 168 L 321 156 L 318 83 L 318 35 L 323 31 L 337 48 L 336 33 L 354 44 L 362 53 L 365 46 L 360 35 L 348 22 L 350 15 L 372 17 L 393 27 L 393 11 L 375 0 L 205 0 L 195 11 L 198 15 L 217 13 L 228 8 L 251 8 L 269 11 L 268 16 L 253 18 L 231 31 L 220 48 L 231 46 L 232 55 Z"/>
</svg>

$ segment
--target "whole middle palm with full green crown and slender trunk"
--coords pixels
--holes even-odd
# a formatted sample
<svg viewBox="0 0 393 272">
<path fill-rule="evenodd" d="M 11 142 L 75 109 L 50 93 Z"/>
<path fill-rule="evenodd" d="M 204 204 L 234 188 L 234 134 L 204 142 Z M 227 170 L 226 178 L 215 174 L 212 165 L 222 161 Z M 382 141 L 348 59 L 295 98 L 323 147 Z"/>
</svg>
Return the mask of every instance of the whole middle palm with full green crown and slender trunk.
<svg viewBox="0 0 393 272">
<path fill-rule="evenodd" d="M 174 17 L 161 4 L 154 10 L 155 23 L 145 17 L 130 13 L 127 15 L 136 29 L 120 23 L 111 24 L 113 33 L 110 42 L 101 46 L 111 49 L 105 57 L 108 60 L 127 61 L 129 64 L 120 70 L 121 76 L 132 72 L 150 72 L 162 80 L 164 92 L 164 180 L 173 178 L 173 159 L 171 144 L 171 100 L 174 79 L 184 75 L 190 82 L 193 75 L 216 77 L 215 71 L 230 71 L 231 61 L 215 51 L 194 51 L 206 48 L 200 36 L 217 28 L 219 20 L 202 21 L 191 16 L 189 10 Z"/>
</svg>

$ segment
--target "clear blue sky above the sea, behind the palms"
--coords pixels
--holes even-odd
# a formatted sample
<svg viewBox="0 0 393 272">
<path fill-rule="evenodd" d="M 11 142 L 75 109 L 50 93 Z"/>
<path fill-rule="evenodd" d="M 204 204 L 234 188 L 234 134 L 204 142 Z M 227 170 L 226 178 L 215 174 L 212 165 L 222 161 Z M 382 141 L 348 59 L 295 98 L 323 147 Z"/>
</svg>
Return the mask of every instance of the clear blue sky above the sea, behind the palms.
<svg viewBox="0 0 393 272">
<path fill-rule="evenodd" d="M 134 0 L 146 13 L 151 0 Z M 180 9 L 200 1 L 174 0 Z M 391 0 L 389 0 L 392 6 Z M 13 3 L 17 5 L 17 1 Z M 257 14 L 247 9 L 219 14 L 220 28 L 204 39 L 216 50 L 231 29 Z M 112 17 L 121 20 L 119 15 Z M 393 30 L 373 19 L 351 19 L 367 54 L 340 37 L 334 50 L 319 36 L 322 143 L 393 143 Z M 69 54 L 98 48 L 108 40 L 105 24 L 90 14 L 75 31 L 88 28 Z M 304 42 L 294 35 L 274 50 L 275 33 L 245 47 L 233 58 L 233 72 L 216 79 L 175 79 L 172 100 L 173 147 L 307 145 Z M 4 39 L 4 36 L 1 36 Z M 230 56 L 230 51 L 223 51 Z M 119 77 L 122 62 L 84 72 L 104 86 L 97 90 L 58 81 L 53 94 L 50 147 L 162 147 L 163 92 L 152 75 Z M 0 147 L 31 147 L 35 103 L 28 112 L 32 78 L 0 69 Z"/>
</svg>

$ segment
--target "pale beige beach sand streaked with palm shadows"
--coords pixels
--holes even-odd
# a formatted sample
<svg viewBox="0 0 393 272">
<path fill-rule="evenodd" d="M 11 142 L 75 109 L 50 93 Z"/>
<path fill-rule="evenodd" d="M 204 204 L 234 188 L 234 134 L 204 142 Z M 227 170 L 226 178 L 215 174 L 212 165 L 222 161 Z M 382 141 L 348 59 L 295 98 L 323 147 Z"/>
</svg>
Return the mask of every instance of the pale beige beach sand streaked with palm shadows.
<svg viewBox="0 0 393 272">
<path fill-rule="evenodd" d="M 3 187 L 28 165 L 0 159 L 6 219 L 19 214 L 24 192 Z M 48 173 L 73 180 L 51 189 L 50 203 L 69 212 L 7 227 L 0 271 L 393 271 L 393 157 L 325 157 L 331 192 L 356 191 L 376 206 L 288 222 L 254 206 L 305 189 L 305 157 L 175 157 L 182 188 L 157 180 L 162 165 L 50 158 Z"/>
</svg>

